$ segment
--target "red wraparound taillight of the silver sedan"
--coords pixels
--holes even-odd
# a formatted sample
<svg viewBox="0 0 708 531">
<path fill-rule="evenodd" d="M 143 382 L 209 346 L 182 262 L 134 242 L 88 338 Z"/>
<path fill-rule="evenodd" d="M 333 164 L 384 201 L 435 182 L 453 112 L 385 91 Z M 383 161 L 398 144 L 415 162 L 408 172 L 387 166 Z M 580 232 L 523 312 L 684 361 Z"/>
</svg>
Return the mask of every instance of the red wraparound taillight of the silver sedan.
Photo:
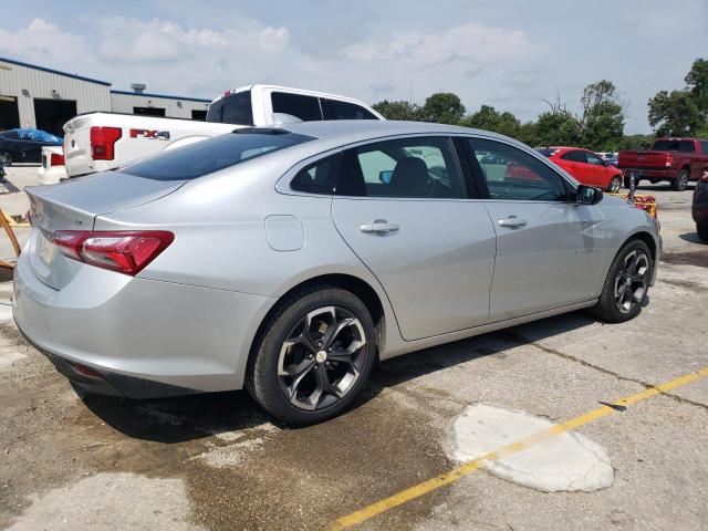
<svg viewBox="0 0 708 531">
<path fill-rule="evenodd" d="M 175 240 L 166 230 L 58 230 L 53 241 L 72 260 L 135 277 Z"/>
</svg>

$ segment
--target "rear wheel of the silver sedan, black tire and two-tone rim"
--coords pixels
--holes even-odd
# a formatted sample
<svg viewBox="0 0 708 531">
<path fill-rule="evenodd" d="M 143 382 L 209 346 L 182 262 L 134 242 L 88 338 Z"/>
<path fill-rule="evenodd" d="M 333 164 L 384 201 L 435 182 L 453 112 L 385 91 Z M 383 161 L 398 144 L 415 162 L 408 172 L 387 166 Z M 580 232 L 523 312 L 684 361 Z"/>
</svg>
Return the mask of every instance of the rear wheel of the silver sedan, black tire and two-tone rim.
<svg viewBox="0 0 708 531">
<path fill-rule="evenodd" d="M 376 332 L 364 303 L 348 291 L 321 285 L 288 296 L 268 317 L 253 345 L 246 387 L 285 424 L 316 424 L 348 407 L 375 357 Z"/>
</svg>

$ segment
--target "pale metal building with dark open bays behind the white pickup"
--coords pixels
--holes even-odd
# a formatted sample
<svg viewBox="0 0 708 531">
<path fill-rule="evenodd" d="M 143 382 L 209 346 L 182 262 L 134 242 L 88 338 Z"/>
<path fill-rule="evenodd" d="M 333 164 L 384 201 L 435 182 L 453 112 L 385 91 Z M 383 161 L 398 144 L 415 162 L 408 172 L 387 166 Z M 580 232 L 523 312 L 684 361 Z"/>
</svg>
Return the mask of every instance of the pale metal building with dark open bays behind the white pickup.
<svg viewBox="0 0 708 531">
<path fill-rule="evenodd" d="M 0 131 L 37 127 L 63 136 L 72 116 L 92 111 L 205 119 L 209 100 L 112 91 L 107 81 L 0 58 Z"/>
</svg>

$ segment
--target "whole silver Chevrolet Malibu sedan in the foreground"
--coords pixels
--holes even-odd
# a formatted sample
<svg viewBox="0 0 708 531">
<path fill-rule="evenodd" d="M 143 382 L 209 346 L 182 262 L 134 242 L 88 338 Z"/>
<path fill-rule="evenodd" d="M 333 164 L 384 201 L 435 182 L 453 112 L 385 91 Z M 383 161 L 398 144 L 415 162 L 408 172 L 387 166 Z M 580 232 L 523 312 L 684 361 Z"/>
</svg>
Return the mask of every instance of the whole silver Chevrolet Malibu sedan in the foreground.
<svg viewBox="0 0 708 531">
<path fill-rule="evenodd" d="M 241 128 L 27 191 L 14 319 L 62 374 L 137 398 L 246 387 L 292 425 L 345 409 L 377 360 L 635 317 L 660 252 L 643 210 L 436 124 Z"/>
</svg>

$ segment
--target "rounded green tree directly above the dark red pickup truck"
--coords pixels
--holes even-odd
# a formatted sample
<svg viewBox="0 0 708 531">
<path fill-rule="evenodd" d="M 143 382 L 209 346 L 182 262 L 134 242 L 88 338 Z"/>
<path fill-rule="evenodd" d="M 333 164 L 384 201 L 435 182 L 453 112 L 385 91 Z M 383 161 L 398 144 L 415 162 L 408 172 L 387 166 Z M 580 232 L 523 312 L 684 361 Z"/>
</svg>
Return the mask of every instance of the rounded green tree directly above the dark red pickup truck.
<svg viewBox="0 0 708 531">
<path fill-rule="evenodd" d="M 649 100 L 649 125 L 659 136 L 693 136 L 706 125 L 688 91 L 662 91 Z"/>
</svg>

